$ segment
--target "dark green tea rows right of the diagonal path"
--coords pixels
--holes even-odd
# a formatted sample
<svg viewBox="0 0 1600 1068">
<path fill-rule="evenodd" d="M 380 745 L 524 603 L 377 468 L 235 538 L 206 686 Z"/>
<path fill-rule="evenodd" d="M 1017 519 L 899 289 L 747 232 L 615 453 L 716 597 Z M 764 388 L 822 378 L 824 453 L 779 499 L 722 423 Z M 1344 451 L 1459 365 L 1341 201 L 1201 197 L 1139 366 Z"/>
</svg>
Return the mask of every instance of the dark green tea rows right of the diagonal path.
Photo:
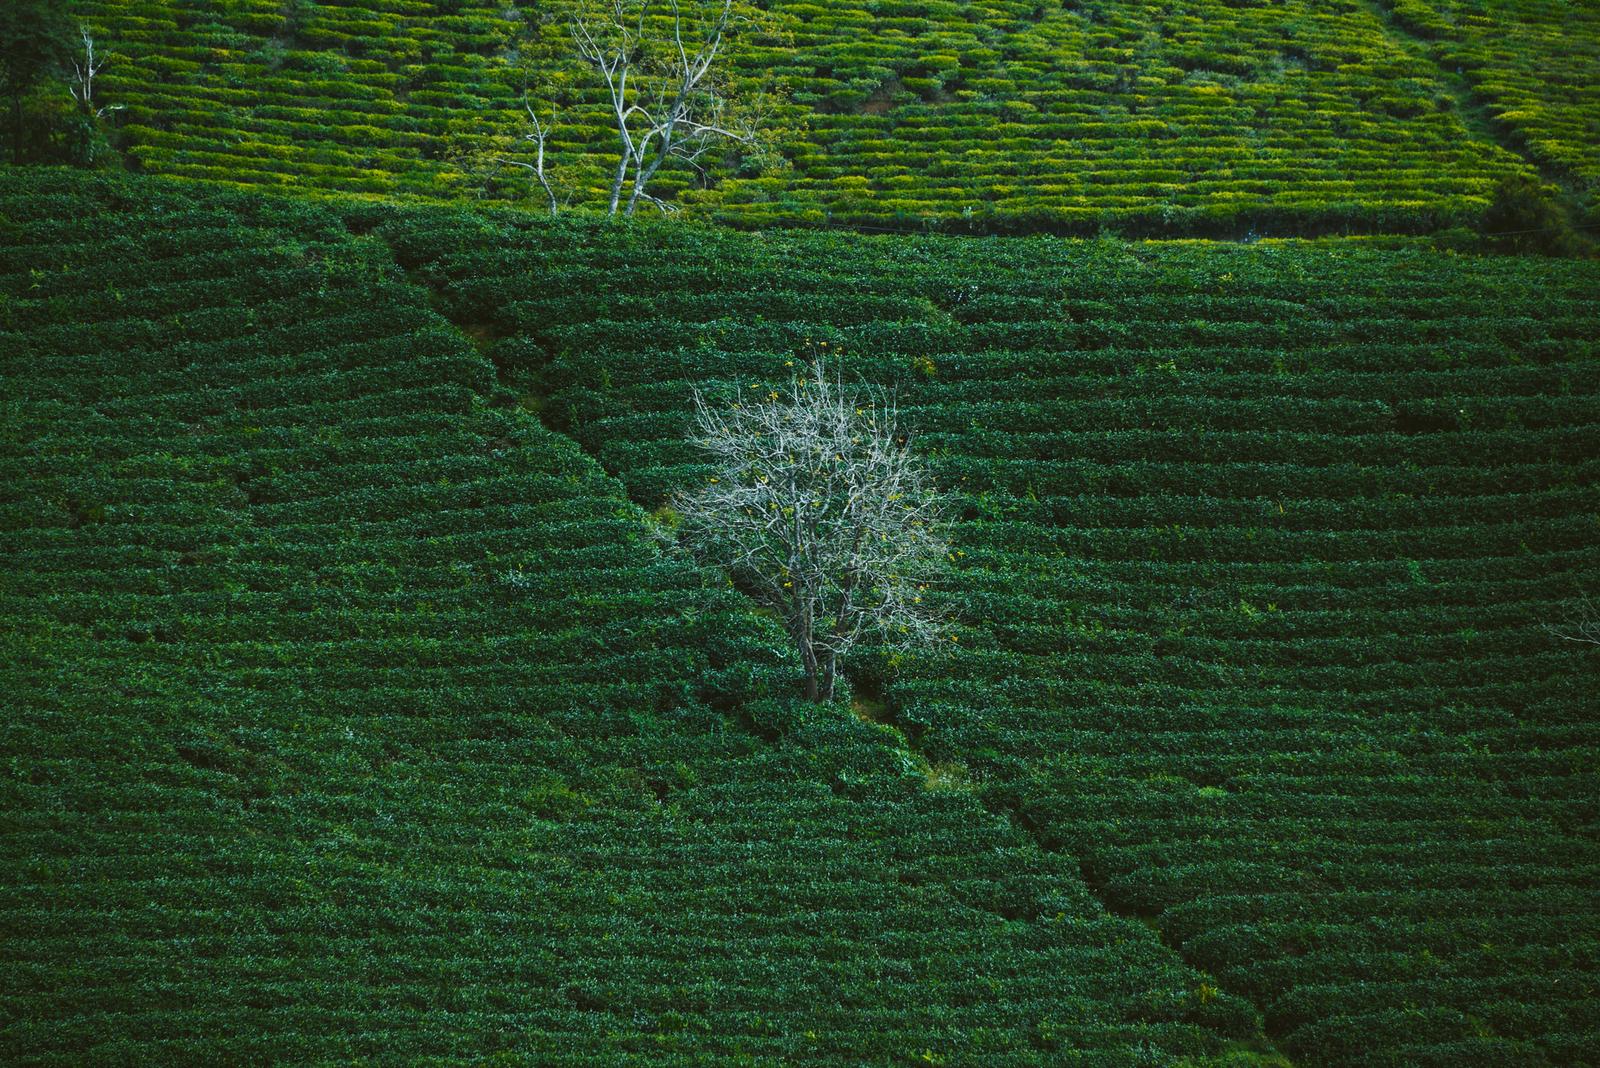
<svg viewBox="0 0 1600 1068">
<path fill-rule="evenodd" d="M 1600 1063 L 1600 270 L 1373 241 L 381 230 L 656 507 L 819 352 L 958 496 L 926 759 L 1296 1065 Z"/>
</svg>

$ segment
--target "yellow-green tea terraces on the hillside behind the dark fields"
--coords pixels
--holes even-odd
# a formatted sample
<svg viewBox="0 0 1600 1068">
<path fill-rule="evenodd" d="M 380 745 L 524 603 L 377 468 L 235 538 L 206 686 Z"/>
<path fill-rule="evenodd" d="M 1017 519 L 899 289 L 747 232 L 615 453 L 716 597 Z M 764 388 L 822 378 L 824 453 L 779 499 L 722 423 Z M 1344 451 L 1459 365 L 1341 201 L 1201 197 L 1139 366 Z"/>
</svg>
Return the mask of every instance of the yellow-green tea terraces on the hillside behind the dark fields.
<svg viewBox="0 0 1600 1068">
<path fill-rule="evenodd" d="M 1413 40 L 1434 24 L 1422 8 L 1389 19 L 1365 0 L 776 0 L 762 5 L 771 30 L 730 54 L 746 90 L 786 101 L 773 122 L 784 163 L 728 160 L 706 181 L 669 169 L 656 192 L 741 225 L 1470 225 L 1502 179 L 1533 173 L 1522 153 L 1582 181 L 1600 160 L 1586 88 L 1597 56 L 1557 48 L 1541 5 L 1429 8 L 1477 35 L 1430 51 Z M 566 0 L 75 6 L 117 53 L 101 93 L 126 107 L 125 155 L 147 171 L 518 198 L 526 185 L 490 179 L 483 158 L 522 131 L 523 86 L 562 106 L 554 158 L 579 200 L 611 166 L 605 109 L 570 69 Z M 1526 144 L 1469 122 L 1461 64 Z M 1546 78 L 1552 64 L 1560 77 Z"/>
</svg>

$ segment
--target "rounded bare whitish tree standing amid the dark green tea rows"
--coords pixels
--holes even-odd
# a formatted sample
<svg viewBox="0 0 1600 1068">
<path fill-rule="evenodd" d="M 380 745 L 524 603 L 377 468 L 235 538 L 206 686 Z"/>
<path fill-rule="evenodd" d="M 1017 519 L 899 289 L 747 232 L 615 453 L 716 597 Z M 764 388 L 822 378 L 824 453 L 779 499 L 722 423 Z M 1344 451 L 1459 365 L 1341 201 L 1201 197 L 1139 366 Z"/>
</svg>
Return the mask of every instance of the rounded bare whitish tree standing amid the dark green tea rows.
<svg viewBox="0 0 1600 1068">
<path fill-rule="evenodd" d="M 784 620 L 806 697 L 832 699 L 840 660 L 867 635 L 939 636 L 925 593 L 949 555 L 944 508 L 891 400 L 818 366 L 754 403 L 696 390 L 694 411 L 714 472 L 672 500 L 680 544 Z"/>
</svg>

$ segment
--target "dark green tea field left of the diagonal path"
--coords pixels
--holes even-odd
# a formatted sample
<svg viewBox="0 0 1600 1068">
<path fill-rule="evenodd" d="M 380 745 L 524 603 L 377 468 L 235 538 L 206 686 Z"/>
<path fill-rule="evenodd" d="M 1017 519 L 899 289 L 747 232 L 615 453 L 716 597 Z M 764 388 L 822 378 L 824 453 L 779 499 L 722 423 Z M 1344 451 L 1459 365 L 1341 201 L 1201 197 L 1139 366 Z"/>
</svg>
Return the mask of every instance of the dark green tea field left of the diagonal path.
<svg viewBox="0 0 1600 1068">
<path fill-rule="evenodd" d="M 0 174 L 0 1060 L 1259 1049 L 338 216 Z"/>
</svg>

